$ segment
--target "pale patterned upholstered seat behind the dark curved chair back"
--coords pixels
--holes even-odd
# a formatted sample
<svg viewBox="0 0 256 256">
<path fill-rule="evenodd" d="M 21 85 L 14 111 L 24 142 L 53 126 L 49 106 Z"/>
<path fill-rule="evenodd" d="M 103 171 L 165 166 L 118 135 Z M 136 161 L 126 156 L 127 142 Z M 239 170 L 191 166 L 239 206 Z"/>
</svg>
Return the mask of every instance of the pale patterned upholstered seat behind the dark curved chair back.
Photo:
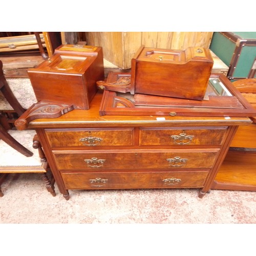
<svg viewBox="0 0 256 256">
<path fill-rule="evenodd" d="M 6 78 L 9 87 L 11 88 L 14 96 L 23 106 L 24 109 L 30 108 L 33 103 L 36 103 L 35 93 L 29 78 Z M 24 97 L 26 95 L 26 97 Z M 13 110 L 12 106 L 0 92 L 0 110 L 10 111 Z"/>
</svg>

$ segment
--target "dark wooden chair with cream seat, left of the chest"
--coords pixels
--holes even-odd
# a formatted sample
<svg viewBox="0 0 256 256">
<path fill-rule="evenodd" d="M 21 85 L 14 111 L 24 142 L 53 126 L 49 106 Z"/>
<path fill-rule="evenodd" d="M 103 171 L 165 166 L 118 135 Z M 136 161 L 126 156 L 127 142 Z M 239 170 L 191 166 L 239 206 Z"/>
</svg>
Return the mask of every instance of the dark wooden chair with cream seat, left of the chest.
<svg viewBox="0 0 256 256">
<path fill-rule="evenodd" d="M 6 104 L 10 104 L 13 111 L 18 116 L 22 115 L 26 110 L 16 99 L 3 73 L 3 63 L 0 60 L 0 90 L 6 100 Z M 27 95 L 23 95 L 26 97 Z M 32 97 L 33 98 L 33 97 Z M 33 100 L 36 100 L 35 98 Z M 34 102 L 31 102 L 31 105 Z M 0 116 L 4 115 L 4 110 L 0 110 Z M 32 146 L 33 145 L 33 146 Z M 38 150 L 38 151 L 37 151 Z M 56 196 L 54 190 L 54 179 L 48 178 L 47 173 L 51 174 L 48 162 L 37 139 L 34 130 L 26 131 L 7 131 L 0 124 L 0 197 L 3 197 L 1 184 L 10 173 L 42 173 L 42 179 L 46 183 L 48 191 Z"/>
</svg>

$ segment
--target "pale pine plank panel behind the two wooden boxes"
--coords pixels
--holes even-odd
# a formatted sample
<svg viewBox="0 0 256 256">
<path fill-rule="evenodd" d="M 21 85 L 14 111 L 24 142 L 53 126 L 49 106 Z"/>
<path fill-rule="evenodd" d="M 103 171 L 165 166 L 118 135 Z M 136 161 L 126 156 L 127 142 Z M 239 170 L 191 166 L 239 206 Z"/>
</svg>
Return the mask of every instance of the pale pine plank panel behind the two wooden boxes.
<svg viewBox="0 0 256 256">
<path fill-rule="evenodd" d="M 141 45 L 184 50 L 209 48 L 213 32 L 85 32 L 87 45 L 102 46 L 104 58 L 121 69 L 131 68 L 131 59 Z"/>
</svg>

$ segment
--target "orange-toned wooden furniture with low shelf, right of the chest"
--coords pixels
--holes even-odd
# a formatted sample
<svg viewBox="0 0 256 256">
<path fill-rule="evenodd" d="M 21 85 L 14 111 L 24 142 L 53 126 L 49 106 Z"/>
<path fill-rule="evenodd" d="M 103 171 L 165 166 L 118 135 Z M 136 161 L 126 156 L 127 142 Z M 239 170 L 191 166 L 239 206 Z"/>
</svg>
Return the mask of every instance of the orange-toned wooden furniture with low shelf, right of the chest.
<svg viewBox="0 0 256 256">
<path fill-rule="evenodd" d="M 233 84 L 256 109 L 256 78 Z M 239 126 L 212 188 L 256 191 L 256 117 L 251 119 L 252 124 Z"/>
</svg>

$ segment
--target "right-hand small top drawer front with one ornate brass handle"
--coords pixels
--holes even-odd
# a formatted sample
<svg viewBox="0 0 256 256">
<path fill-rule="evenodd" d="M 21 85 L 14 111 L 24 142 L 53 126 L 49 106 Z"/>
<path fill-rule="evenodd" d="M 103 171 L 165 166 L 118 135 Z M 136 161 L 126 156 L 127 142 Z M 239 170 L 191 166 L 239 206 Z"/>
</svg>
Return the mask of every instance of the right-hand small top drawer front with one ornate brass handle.
<svg viewBox="0 0 256 256">
<path fill-rule="evenodd" d="M 141 128 L 140 145 L 221 145 L 227 127 Z"/>
</svg>

